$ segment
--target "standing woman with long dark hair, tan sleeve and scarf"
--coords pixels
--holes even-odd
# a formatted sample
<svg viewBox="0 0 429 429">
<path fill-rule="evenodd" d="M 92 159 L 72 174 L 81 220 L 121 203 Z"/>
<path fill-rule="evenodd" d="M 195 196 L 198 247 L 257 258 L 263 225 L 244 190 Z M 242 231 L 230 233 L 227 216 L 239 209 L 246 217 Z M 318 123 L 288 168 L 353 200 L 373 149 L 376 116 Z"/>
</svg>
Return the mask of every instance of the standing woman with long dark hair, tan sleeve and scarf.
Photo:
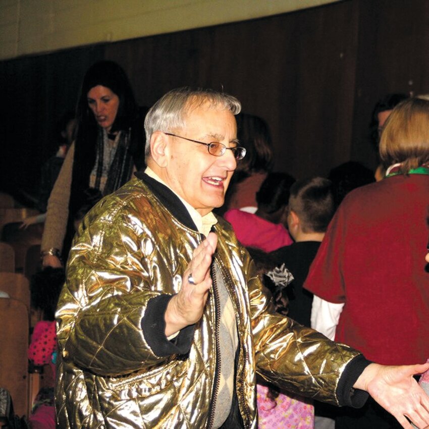
<svg viewBox="0 0 429 429">
<path fill-rule="evenodd" d="M 52 189 L 42 237 L 43 266 L 59 267 L 87 190 L 108 195 L 144 165 L 143 118 L 124 70 L 100 61 L 85 74 L 76 109 L 76 140 Z"/>
</svg>

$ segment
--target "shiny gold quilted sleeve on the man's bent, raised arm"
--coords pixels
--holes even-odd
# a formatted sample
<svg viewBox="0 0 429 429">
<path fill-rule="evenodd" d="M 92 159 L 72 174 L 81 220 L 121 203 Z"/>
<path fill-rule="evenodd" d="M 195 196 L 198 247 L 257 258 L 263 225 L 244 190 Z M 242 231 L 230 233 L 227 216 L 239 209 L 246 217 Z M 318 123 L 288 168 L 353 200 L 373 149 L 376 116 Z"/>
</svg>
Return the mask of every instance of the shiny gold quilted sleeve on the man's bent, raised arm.
<svg viewBox="0 0 429 429">
<path fill-rule="evenodd" d="M 110 199 L 111 206 L 115 203 L 121 202 Z M 154 237 L 132 211 L 124 213 L 120 208 L 103 210 L 101 204 L 85 218 L 57 311 L 63 359 L 104 376 L 168 359 L 153 354 L 141 320 L 148 300 L 162 293 L 158 286 L 171 283 L 172 276 L 160 277 L 166 270 L 159 266 L 163 261 Z"/>
</svg>

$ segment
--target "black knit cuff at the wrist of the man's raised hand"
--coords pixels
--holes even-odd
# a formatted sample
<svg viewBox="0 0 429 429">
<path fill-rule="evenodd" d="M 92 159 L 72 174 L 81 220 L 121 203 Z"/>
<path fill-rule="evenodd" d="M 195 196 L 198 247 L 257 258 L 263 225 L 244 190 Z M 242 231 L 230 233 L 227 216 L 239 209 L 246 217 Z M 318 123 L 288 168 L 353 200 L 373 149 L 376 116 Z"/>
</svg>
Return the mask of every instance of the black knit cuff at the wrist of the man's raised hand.
<svg viewBox="0 0 429 429">
<path fill-rule="evenodd" d="M 195 325 L 180 330 L 171 341 L 166 337 L 166 321 L 164 314 L 173 295 L 158 295 L 149 299 L 146 311 L 141 319 L 141 329 L 152 352 L 159 357 L 189 352 L 194 338 Z"/>
</svg>

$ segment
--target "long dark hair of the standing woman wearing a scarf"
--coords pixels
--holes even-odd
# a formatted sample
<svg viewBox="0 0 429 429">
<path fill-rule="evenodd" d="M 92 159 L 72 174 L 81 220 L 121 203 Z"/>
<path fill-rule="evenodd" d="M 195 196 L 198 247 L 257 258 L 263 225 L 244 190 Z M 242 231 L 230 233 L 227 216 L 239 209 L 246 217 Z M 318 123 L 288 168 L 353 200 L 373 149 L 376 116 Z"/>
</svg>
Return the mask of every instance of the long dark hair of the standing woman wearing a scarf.
<svg viewBox="0 0 429 429">
<path fill-rule="evenodd" d="M 109 88 L 119 97 L 118 113 L 111 131 L 131 130 L 128 151 L 137 169 L 144 165 L 144 117 L 139 114 L 128 77 L 122 67 L 113 61 L 99 61 L 86 72 L 76 107 L 76 141 L 70 195 L 72 217 L 82 205 L 82 192 L 88 188 L 89 175 L 95 164 L 100 127 L 88 106 L 87 94 L 97 85 Z"/>
</svg>

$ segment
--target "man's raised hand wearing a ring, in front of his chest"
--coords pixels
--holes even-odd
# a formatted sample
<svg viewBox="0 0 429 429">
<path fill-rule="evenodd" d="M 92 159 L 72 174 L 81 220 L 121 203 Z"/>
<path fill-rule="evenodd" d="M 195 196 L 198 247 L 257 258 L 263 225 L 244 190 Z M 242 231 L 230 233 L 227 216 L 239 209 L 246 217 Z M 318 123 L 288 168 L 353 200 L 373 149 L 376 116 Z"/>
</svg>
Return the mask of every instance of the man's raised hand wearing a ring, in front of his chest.
<svg viewBox="0 0 429 429">
<path fill-rule="evenodd" d="M 217 244 L 218 237 L 211 232 L 194 250 L 192 260 L 183 274 L 182 287 L 167 306 L 165 313 L 167 337 L 201 318 L 211 287 L 210 264 Z M 194 284 L 189 283 L 189 275 L 192 275 Z"/>
</svg>

